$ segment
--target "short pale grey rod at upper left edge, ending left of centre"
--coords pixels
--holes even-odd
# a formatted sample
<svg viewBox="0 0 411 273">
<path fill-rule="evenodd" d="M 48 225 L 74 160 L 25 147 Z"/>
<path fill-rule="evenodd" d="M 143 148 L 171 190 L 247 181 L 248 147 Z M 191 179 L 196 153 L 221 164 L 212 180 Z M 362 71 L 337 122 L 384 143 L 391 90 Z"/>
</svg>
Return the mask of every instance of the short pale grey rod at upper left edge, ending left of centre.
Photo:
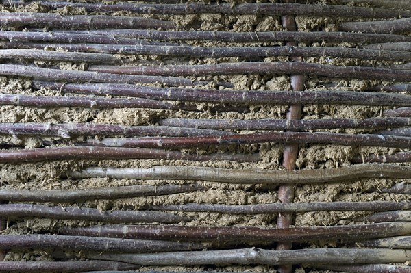
<svg viewBox="0 0 411 273">
<path fill-rule="evenodd" d="M 52 62 L 85 62 L 90 64 L 122 64 L 110 54 L 56 52 L 36 49 L 0 49 L 0 59 L 38 60 Z"/>
</svg>

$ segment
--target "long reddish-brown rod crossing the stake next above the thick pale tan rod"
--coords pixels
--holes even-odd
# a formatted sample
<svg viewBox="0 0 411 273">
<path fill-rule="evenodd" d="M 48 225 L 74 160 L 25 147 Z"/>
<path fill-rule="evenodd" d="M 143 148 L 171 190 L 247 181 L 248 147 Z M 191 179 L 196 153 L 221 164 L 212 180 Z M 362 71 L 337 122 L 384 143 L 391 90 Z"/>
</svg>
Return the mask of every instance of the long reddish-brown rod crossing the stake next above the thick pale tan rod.
<svg viewBox="0 0 411 273">
<path fill-rule="evenodd" d="M 90 139 L 77 145 L 123 148 L 191 148 L 208 145 L 285 143 L 285 144 L 337 144 L 344 146 L 378 146 L 410 148 L 411 138 L 396 135 L 371 135 L 327 132 L 269 132 L 221 136 L 141 137 Z M 5 157 L 3 157 L 4 159 Z M 1 159 L 0 159 L 1 160 Z"/>
</svg>

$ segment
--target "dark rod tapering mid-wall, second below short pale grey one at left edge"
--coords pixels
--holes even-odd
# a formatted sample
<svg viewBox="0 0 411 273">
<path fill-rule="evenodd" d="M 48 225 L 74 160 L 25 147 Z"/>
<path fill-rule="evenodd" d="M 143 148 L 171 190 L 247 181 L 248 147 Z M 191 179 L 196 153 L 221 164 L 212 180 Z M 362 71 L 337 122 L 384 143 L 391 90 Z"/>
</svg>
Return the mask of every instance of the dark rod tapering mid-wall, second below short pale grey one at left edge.
<svg viewBox="0 0 411 273">
<path fill-rule="evenodd" d="M 0 94 L 0 105 L 27 107 L 82 107 L 82 108 L 151 108 L 198 111 L 196 105 L 175 105 L 152 99 L 101 98 L 92 96 L 31 96 Z"/>
</svg>

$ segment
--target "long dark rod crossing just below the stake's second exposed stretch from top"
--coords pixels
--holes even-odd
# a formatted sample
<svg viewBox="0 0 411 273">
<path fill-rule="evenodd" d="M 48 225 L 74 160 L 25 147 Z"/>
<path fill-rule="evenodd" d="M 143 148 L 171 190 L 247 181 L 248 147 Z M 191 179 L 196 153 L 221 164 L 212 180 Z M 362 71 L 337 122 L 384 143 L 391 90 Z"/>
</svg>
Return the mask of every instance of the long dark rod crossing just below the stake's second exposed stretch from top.
<svg viewBox="0 0 411 273">
<path fill-rule="evenodd" d="M 34 88 L 51 88 L 61 92 L 76 94 L 94 94 L 99 96 L 136 96 L 146 99 L 195 101 L 210 103 L 247 103 L 247 104 L 345 104 L 375 106 L 408 106 L 410 96 L 404 94 L 386 94 L 382 92 L 351 91 L 252 91 L 252 90 L 212 90 L 197 88 L 155 88 L 130 84 L 90 84 L 58 83 L 50 81 L 32 81 Z"/>
</svg>

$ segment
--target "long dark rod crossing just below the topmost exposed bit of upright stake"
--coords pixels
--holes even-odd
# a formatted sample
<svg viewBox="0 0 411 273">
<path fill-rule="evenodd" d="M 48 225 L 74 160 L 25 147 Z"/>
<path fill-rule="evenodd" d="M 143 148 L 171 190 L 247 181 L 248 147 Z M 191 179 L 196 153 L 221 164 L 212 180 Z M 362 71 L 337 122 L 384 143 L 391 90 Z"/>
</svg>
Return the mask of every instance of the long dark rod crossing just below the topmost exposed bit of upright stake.
<svg viewBox="0 0 411 273">
<path fill-rule="evenodd" d="M 75 34 L 96 34 L 149 40 L 208 40 L 222 42 L 358 42 L 375 44 L 379 42 L 410 42 L 410 36 L 396 34 L 360 34 L 351 32 L 231 32 L 231 31 L 157 31 L 144 29 L 105 29 L 89 31 L 62 31 L 69 36 Z M 1 36 L 0 36 L 1 37 Z M 86 42 L 86 41 L 85 41 Z M 97 42 L 96 42 L 97 43 Z M 108 44 L 108 42 L 104 42 Z"/>
</svg>

